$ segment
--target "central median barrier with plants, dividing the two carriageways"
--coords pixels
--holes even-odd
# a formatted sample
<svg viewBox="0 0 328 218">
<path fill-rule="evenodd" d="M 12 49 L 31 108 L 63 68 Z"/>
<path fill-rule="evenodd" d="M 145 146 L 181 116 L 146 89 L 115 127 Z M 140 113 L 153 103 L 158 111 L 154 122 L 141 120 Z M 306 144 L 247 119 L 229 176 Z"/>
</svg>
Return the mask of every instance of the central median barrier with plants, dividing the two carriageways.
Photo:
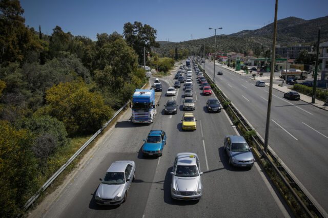
<svg viewBox="0 0 328 218">
<path fill-rule="evenodd" d="M 197 62 L 197 61 L 196 61 Z M 198 64 L 198 62 L 197 62 Z M 209 77 L 209 75 L 206 73 L 204 69 L 201 68 L 200 64 L 198 64 L 198 67 L 203 72 L 203 75 L 207 78 L 209 83 L 211 84 L 212 89 L 214 90 L 214 93 L 216 96 L 220 99 L 221 103 L 229 102 L 227 104 L 227 109 L 230 108 L 231 114 L 238 120 L 237 123 L 241 124 L 241 127 L 244 131 L 241 129 L 240 132 L 249 132 L 250 130 L 253 130 L 252 127 L 249 125 L 249 123 L 243 118 L 243 116 L 239 113 L 239 111 L 230 103 L 230 100 L 224 96 L 224 94 L 220 91 L 218 86 L 213 83 L 213 79 Z M 229 113 L 228 113 L 229 114 Z M 229 114 L 230 115 L 230 114 Z M 230 115 L 230 118 L 232 119 L 232 116 Z M 233 120 L 234 121 L 234 120 Z M 235 124 L 235 122 L 234 122 Z M 236 125 L 236 124 L 235 124 Z M 238 127 L 238 125 L 236 125 Z M 268 154 L 264 151 L 264 142 L 262 139 L 260 139 L 257 135 L 251 136 L 252 142 L 254 145 L 256 145 L 257 150 L 253 150 L 255 153 L 258 152 L 259 154 L 255 154 L 255 157 L 257 157 L 258 160 L 261 160 L 262 158 L 269 163 L 271 167 L 271 173 L 268 171 L 270 170 L 268 168 L 268 165 L 263 165 L 262 161 L 258 161 L 262 164 L 263 168 L 267 170 L 269 176 L 271 176 L 271 180 L 276 185 L 277 189 L 281 193 L 282 197 L 285 199 L 286 203 L 290 206 L 291 210 L 296 216 L 306 216 L 306 217 L 324 217 L 322 213 L 318 210 L 318 208 L 313 204 L 313 202 L 306 197 L 305 192 L 301 189 L 301 187 L 295 182 L 295 180 L 292 178 L 291 175 L 289 175 L 288 171 L 284 169 L 284 167 L 279 163 L 279 159 L 274 155 L 274 152 L 271 150 L 271 148 L 268 149 Z M 275 173 L 274 176 L 272 176 L 272 173 Z M 278 176 L 276 178 L 275 176 Z M 274 178 L 273 178 L 274 177 Z M 281 183 L 285 186 L 281 187 Z M 286 196 L 286 189 L 288 189 L 289 193 L 291 194 L 292 198 L 288 198 Z M 296 191 L 299 193 L 297 194 Z M 299 197 L 301 196 L 302 199 Z M 300 211 L 295 208 L 295 202 L 299 206 L 299 208 L 302 210 L 301 214 Z"/>
</svg>

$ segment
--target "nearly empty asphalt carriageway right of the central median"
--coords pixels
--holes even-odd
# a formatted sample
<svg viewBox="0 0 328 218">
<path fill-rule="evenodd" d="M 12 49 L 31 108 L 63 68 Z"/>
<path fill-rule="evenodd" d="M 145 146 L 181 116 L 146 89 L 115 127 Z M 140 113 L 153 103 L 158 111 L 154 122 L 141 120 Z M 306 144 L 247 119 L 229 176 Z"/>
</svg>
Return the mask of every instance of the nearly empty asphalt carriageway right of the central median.
<svg viewBox="0 0 328 218">
<path fill-rule="evenodd" d="M 257 87 L 251 75 L 215 67 L 215 83 L 264 139 L 269 86 Z M 213 63 L 205 64 L 213 75 Z M 273 90 L 269 145 L 321 207 L 328 211 L 328 112 Z"/>
</svg>

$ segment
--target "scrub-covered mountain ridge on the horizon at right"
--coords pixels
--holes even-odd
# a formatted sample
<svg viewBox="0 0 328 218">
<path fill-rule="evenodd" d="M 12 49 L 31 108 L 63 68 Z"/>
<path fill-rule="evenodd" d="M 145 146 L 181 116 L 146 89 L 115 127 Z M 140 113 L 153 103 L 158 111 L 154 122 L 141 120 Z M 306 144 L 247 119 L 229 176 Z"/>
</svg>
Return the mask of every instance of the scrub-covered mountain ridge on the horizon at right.
<svg viewBox="0 0 328 218">
<path fill-rule="evenodd" d="M 230 35 L 217 35 L 218 52 L 253 52 L 260 53 L 263 48 L 272 46 L 274 24 L 269 24 L 256 30 L 242 30 Z M 296 44 L 313 45 L 317 41 L 318 29 L 321 28 L 320 41 L 328 40 L 328 16 L 305 20 L 297 17 L 287 17 L 277 21 L 276 44 L 289 46 Z M 203 46 L 202 46 L 203 45 Z M 202 48 L 201 48 L 202 47 Z M 190 53 L 199 54 L 214 51 L 214 36 L 183 42 L 160 41 L 157 52 L 168 53 L 171 49 L 188 49 Z M 258 55 L 257 54 L 257 55 Z"/>
</svg>

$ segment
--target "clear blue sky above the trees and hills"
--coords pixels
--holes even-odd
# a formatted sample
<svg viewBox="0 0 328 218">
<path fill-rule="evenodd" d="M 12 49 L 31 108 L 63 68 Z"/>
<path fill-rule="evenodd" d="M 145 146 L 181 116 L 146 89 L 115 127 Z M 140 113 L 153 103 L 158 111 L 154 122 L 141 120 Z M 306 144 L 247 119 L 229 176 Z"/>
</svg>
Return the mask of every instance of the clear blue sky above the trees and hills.
<svg viewBox="0 0 328 218">
<path fill-rule="evenodd" d="M 51 35 L 55 26 L 96 40 L 97 33 L 123 32 L 124 24 L 140 21 L 157 30 L 156 40 L 185 41 L 217 34 L 253 30 L 274 20 L 274 0 L 21 0 L 25 24 Z M 280 0 L 278 19 L 314 19 L 328 15 L 327 0 Z"/>
</svg>

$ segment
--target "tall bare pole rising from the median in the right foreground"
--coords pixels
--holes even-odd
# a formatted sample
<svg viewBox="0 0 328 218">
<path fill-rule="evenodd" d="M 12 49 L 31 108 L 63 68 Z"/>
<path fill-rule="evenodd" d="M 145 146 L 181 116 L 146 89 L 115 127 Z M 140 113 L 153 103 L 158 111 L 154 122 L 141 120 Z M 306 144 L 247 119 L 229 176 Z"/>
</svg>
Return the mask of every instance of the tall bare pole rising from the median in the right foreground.
<svg viewBox="0 0 328 218">
<path fill-rule="evenodd" d="M 269 143 L 269 127 L 270 127 L 270 114 L 271 114 L 271 102 L 272 102 L 272 83 L 274 74 L 274 62 L 276 53 L 276 36 L 277 36 L 277 11 L 278 11 L 278 0 L 276 0 L 275 7 L 275 22 L 273 28 L 273 42 L 272 42 L 272 58 L 271 58 L 271 74 L 270 74 L 270 87 L 269 87 L 269 99 L 268 99 L 268 113 L 267 113 L 267 124 L 265 125 L 265 139 L 264 139 L 264 151 L 268 151 Z"/>
</svg>

